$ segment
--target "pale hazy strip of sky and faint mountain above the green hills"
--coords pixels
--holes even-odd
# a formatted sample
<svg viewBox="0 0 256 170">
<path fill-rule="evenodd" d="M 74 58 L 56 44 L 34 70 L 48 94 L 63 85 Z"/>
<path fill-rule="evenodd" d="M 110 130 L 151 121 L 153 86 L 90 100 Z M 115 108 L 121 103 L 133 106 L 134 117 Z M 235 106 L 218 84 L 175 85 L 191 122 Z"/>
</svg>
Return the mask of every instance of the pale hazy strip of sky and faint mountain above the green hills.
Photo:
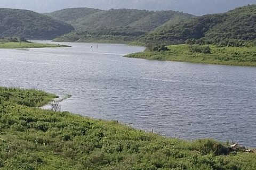
<svg viewBox="0 0 256 170">
<path fill-rule="evenodd" d="M 0 0 L 0 7 L 36 12 L 52 12 L 70 7 L 138 8 L 140 10 L 174 10 L 194 15 L 226 12 L 238 6 L 256 4 L 256 0 Z"/>
</svg>

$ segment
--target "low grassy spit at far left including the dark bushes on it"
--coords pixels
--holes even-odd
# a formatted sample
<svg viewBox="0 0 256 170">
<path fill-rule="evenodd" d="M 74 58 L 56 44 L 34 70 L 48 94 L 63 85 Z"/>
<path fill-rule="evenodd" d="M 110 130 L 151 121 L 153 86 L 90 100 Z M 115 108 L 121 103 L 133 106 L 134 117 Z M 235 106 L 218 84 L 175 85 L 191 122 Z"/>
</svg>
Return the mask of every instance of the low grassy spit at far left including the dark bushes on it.
<svg viewBox="0 0 256 170">
<path fill-rule="evenodd" d="M 25 49 L 25 48 L 45 48 L 45 47 L 70 47 L 70 46 L 60 45 L 60 44 L 31 43 L 25 38 L 15 37 L 15 36 L 0 39 L 0 48 Z"/>
</svg>

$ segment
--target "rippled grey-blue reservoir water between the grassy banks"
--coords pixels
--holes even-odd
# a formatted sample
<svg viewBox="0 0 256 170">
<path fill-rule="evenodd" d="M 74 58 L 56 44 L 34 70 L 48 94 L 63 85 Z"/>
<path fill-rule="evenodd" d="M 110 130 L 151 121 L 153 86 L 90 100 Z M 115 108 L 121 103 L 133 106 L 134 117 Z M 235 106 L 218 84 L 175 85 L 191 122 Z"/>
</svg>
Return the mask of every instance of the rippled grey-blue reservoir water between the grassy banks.
<svg viewBox="0 0 256 170">
<path fill-rule="evenodd" d="M 143 47 L 0 49 L 0 86 L 72 95 L 61 111 L 182 139 L 256 147 L 256 67 L 122 57 Z M 91 47 L 92 46 L 92 47 Z"/>
</svg>

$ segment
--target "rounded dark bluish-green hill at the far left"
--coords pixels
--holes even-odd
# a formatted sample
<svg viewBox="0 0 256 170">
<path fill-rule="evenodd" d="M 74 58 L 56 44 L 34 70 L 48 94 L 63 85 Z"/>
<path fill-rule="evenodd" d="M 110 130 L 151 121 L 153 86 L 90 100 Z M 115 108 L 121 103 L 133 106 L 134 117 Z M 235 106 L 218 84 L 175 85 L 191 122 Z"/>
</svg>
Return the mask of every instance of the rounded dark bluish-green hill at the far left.
<svg viewBox="0 0 256 170">
<path fill-rule="evenodd" d="M 74 28 L 58 21 L 28 10 L 0 8 L 0 37 L 20 36 L 29 39 L 53 39 Z"/>
</svg>

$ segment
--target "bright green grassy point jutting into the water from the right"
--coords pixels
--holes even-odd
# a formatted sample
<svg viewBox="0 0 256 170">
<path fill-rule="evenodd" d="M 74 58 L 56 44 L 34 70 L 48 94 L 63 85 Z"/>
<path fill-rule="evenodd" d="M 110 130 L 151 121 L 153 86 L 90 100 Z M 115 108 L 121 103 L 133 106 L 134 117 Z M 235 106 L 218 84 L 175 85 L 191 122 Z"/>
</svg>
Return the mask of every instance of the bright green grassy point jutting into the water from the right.
<svg viewBox="0 0 256 170">
<path fill-rule="evenodd" d="M 215 45 L 210 45 L 209 47 L 211 54 L 191 52 L 190 45 L 172 45 L 168 46 L 166 51 L 146 51 L 130 54 L 126 57 L 204 64 L 256 66 L 256 47 L 218 47 Z"/>
</svg>

